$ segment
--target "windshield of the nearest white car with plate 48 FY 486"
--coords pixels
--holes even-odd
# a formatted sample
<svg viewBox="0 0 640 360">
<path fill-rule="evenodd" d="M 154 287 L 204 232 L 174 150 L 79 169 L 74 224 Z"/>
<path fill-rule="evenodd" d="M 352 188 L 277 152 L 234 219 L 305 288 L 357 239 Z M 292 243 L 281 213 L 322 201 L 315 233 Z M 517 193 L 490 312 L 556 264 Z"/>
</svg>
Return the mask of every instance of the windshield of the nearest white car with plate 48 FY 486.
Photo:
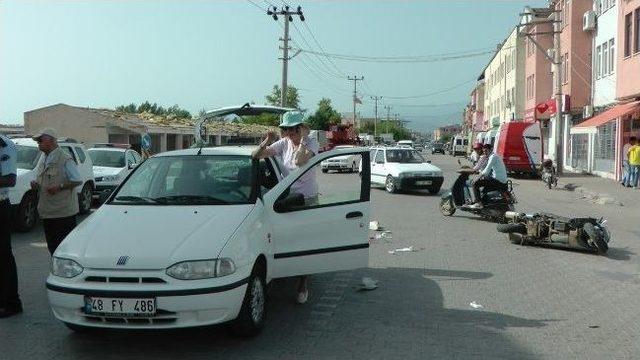
<svg viewBox="0 0 640 360">
<path fill-rule="evenodd" d="M 111 204 L 248 204 L 252 196 L 249 156 L 161 156 L 143 162 Z"/>
</svg>

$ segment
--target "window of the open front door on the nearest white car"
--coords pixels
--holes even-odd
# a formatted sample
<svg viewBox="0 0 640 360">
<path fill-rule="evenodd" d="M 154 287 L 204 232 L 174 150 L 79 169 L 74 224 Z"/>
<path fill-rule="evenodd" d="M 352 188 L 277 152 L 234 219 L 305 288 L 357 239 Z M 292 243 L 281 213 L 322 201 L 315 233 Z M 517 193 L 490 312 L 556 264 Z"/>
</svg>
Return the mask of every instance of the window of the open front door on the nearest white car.
<svg viewBox="0 0 640 360">
<path fill-rule="evenodd" d="M 356 163 L 360 163 L 363 160 L 362 153 L 354 153 L 349 156 Z M 344 157 L 344 154 L 340 154 L 326 158 L 323 161 L 343 159 Z M 287 196 L 292 196 L 296 193 L 304 196 L 304 204 L 294 206 L 290 209 L 291 211 L 369 201 L 369 176 L 348 173 L 340 175 L 339 181 L 336 181 L 336 176 L 318 176 L 319 170 L 320 163 L 318 162 L 303 175 L 300 175 L 289 187 L 288 191 L 285 191 Z M 316 187 L 314 187 L 313 178 L 315 178 Z M 367 184 L 364 185 L 364 182 Z"/>
</svg>

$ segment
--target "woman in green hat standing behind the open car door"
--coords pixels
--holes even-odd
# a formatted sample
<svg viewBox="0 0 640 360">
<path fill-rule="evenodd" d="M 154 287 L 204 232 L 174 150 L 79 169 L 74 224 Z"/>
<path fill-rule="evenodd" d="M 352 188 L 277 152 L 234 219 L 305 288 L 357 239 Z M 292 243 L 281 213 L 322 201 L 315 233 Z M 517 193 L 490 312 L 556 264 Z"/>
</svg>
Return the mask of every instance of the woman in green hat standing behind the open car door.
<svg viewBox="0 0 640 360">
<path fill-rule="evenodd" d="M 269 131 L 260 147 L 251 156 L 255 159 L 279 156 L 282 159 L 284 175 L 286 176 L 291 171 L 306 164 L 318 153 L 320 146 L 315 139 L 309 137 L 309 128 L 304 124 L 303 114 L 299 111 L 284 113 L 279 126 L 282 131 L 282 138 L 275 141 L 277 139 L 276 133 Z M 305 198 L 305 203 L 315 201 L 318 196 L 316 172 L 313 170 L 307 171 L 291 185 L 291 191 L 302 194 Z M 307 276 L 301 276 L 298 283 L 296 301 L 299 304 L 304 304 L 308 298 Z"/>
</svg>

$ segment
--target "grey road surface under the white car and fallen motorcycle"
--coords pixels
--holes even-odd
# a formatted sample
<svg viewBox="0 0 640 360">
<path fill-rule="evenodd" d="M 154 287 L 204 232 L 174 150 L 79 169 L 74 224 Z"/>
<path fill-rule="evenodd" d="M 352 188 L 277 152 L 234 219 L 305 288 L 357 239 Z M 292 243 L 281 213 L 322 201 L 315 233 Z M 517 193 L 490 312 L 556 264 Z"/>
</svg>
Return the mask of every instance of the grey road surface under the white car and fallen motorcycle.
<svg viewBox="0 0 640 360">
<path fill-rule="evenodd" d="M 450 186 L 455 161 L 431 158 Z M 354 175 L 320 176 L 339 184 Z M 391 238 L 372 233 L 370 267 L 313 276 L 302 306 L 294 282 L 277 281 L 256 338 L 236 339 L 223 327 L 79 335 L 48 308 L 49 257 L 38 228 L 14 236 L 25 313 L 0 320 L 0 359 L 639 358 L 639 207 L 594 205 L 540 181 L 514 181 L 518 210 L 608 218 L 608 255 L 512 245 L 495 224 L 442 216 L 439 196 L 372 189 L 372 220 Z M 416 251 L 389 253 L 410 246 Z M 356 291 L 364 276 L 379 288 Z"/>
</svg>

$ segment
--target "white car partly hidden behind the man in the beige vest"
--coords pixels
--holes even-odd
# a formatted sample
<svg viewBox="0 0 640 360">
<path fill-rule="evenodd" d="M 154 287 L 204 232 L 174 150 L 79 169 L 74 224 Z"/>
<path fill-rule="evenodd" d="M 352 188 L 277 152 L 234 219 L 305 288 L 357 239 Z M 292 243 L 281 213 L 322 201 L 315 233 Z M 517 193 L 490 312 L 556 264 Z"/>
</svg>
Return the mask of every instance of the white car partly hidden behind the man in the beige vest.
<svg viewBox="0 0 640 360">
<path fill-rule="evenodd" d="M 14 227 L 18 231 L 31 230 L 38 220 L 38 195 L 31 190 L 31 181 L 36 180 L 36 169 L 44 161 L 38 143 L 31 138 L 12 139 L 18 152 L 18 176 L 16 186 L 9 189 L 9 201 L 13 209 Z M 91 209 L 91 193 L 93 192 L 93 164 L 87 156 L 84 145 L 60 140 L 58 145 L 78 164 L 78 172 L 82 177 L 82 185 L 76 188 L 80 213 L 88 213 Z"/>
</svg>

